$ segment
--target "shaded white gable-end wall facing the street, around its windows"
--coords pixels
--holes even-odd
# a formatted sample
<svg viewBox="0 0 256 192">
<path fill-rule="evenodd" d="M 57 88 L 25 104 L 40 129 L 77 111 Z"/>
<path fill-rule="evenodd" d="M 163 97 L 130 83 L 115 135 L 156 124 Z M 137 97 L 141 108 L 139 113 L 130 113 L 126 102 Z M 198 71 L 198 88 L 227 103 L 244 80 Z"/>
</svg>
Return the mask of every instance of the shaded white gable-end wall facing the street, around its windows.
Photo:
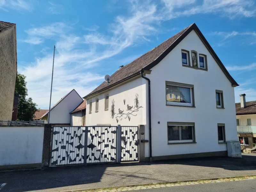
<svg viewBox="0 0 256 192">
<path fill-rule="evenodd" d="M 181 49 L 207 55 L 208 71 L 183 67 Z M 147 77 L 151 80 L 152 156 L 225 151 L 226 144 L 218 143 L 218 123 L 225 124 L 227 141 L 237 140 L 234 87 L 195 31 L 151 70 Z M 165 81 L 193 84 L 196 108 L 166 106 Z M 216 89 L 223 91 L 225 109 L 216 108 Z M 168 145 L 167 122 L 194 122 L 196 144 Z"/>
</svg>

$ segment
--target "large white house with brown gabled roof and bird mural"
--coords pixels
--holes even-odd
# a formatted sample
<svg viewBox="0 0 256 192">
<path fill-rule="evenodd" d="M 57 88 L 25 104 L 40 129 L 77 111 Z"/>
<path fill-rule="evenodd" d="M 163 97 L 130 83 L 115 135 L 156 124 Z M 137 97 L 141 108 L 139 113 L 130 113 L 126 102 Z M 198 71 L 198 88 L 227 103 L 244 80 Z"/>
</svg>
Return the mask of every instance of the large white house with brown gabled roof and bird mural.
<svg viewBox="0 0 256 192">
<path fill-rule="evenodd" d="M 146 160 L 227 156 L 236 86 L 194 23 L 86 95 L 86 125 L 145 125 Z"/>
</svg>

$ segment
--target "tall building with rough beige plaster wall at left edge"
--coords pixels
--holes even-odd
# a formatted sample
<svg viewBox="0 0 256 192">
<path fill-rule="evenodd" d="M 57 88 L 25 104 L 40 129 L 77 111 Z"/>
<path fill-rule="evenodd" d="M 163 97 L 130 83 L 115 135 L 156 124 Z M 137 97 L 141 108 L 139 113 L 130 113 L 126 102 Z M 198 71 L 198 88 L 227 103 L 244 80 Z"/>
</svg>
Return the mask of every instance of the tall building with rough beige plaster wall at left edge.
<svg viewBox="0 0 256 192">
<path fill-rule="evenodd" d="M 17 76 L 16 24 L 0 21 L 0 120 L 11 121 Z"/>
</svg>

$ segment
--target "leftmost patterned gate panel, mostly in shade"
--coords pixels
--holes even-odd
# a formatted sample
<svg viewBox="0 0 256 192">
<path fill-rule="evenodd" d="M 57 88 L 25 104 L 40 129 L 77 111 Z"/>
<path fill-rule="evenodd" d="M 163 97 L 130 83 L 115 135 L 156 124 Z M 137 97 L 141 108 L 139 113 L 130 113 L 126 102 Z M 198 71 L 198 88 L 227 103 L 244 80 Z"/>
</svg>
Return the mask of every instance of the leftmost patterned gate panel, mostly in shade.
<svg viewBox="0 0 256 192">
<path fill-rule="evenodd" d="M 85 127 L 53 127 L 51 165 L 84 164 Z"/>
</svg>

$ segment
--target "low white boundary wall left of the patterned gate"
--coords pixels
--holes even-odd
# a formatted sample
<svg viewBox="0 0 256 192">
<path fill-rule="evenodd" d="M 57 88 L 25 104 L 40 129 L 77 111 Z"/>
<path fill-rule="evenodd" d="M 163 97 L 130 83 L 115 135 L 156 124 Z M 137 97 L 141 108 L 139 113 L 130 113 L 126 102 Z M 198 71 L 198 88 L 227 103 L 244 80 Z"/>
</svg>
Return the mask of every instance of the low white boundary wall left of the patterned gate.
<svg viewBox="0 0 256 192">
<path fill-rule="evenodd" d="M 0 166 L 42 163 L 44 127 L 0 127 Z"/>
</svg>

